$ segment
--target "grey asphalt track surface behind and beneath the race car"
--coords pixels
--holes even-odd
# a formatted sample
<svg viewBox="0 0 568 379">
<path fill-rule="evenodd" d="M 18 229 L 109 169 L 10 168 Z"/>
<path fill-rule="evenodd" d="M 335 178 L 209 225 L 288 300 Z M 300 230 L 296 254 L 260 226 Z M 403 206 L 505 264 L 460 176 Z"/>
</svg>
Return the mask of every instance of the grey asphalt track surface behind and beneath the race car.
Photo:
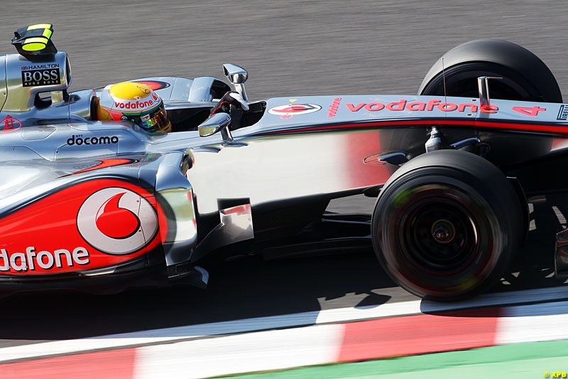
<svg viewBox="0 0 568 379">
<path fill-rule="evenodd" d="M 556 1 L 18 1 L 4 5 L 1 53 L 13 31 L 55 25 L 70 55 L 72 90 L 152 75 L 222 77 L 222 63 L 249 70 L 251 99 L 415 93 L 440 55 L 476 38 L 532 50 L 568 94 L 566 14 Z M 568 95 L 565 95 L 568 96 Z M 373 200 L 334 202 L 370 213 Z M 556 207 L 556 208 L 554 208 Z M 519 265 L 494 291 L 559 285 L 550 277 L 562 197 L 538 203 Z M 244 317 L 415 299 L 372 253 L 226 262 L 209 289 L 141 290 L 111 296 L 23 294 L 2 300 L 0 347 Z"/>
</svg>

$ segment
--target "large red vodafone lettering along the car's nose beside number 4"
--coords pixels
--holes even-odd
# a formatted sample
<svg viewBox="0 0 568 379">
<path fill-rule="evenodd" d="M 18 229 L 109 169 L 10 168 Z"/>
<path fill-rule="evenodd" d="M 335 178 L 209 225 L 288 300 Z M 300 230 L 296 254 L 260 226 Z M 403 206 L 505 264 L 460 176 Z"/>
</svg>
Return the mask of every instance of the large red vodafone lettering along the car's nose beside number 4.
<svg viewBox="0 0 568 379">
<path fill-rule="evenodd" d="M 346 104 L 347 109 L 351 112 L 359 112 L 359 110 L 366 110 L 369 112 L 378 112 L 380 110 L 402 111 L 408 110 L 411 112 L 432 112 L 439 110 L 442 112 L 471 112 L 476 113 L 478 110 L 484 113 L 496 113 L 499 108 L 496 105 L 489 105 L 487 107 L 479 107 L 479 105 L 472 103 L 454 104 L 453 102 L 442 102 L 442 100 L 429 100 L 428 102 L 408 102 L 408 100 L 400 100 L 398 102 L 361 102 L 359 104 Z"/>
</svg>

